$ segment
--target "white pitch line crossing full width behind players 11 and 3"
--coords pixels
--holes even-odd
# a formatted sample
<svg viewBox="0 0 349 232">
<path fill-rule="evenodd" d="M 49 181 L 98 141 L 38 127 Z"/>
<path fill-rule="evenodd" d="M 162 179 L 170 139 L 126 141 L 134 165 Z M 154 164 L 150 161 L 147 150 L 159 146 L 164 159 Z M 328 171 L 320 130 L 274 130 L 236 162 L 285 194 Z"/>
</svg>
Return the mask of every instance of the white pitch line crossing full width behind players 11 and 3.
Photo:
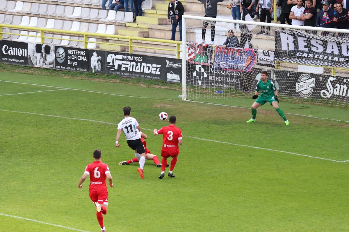
<svg viewBox="0 0 349 232">
<path fill-rule="evenodd" d="M 103 121 L 90 120 L 90 119 L 81 119 L 81 118 L 69 118 L 69 117 L 50 115 L 50 114 L 40 114 L 40 113 L 31 113 L 31 112 L 22 112 L 22 111 L 13 111 L 13 110 L 1 110 L 1 109 L 0 109 L 0 111 L 14 112 L 14 113 L 25 113 L 25 114 L 35 114 L 35 115 L 49 116 L 49 117 L 54 117 L 54 118 L 65 118 L 65 119 L 74 119 L 74 120 L 81 120 L 81 121 L 99 122 L 99 123 L 104 123 L 104 124 L 109 124 L 109 125 L 118 125 L 117 123 L 112 123 L 112 122 L 103 122 Z M 147 128 L 142 128 L 142 130 L 153 131 L 152 129 L 147 129 Z M 299 153 L 294 153 L 294 152 L 279 151 L 279 150 L 268 149 L 268 148 L 263 148 L 263 147 L 255 147 L 255 146 L 242 145 L 242 144 L 237 144 L 237 143 L 229 143 L 229 142 L 223 142 L 223 141 L 206 139 L 206 138 L 198 138 L 198 137 L 192 137 L 192 136 L 186 136 L 186 135 L 183 135 L 183 137 L 199 139 L 199 140 L 205 140 L 205 141 L 215 142 L 215 143 L 230 144 L 230 145 L 234 145 L 234 146 L 250 147 L 250 148 L 253 148 L 253 149 L 275 151 L 275 152 L 287 153 L 287 154 L 292 154 L 292 155 L 300 155 L 300 156 L 304 156 L 304 157 L 309 157 L 309 158 L 314 158 L 314 159 L 321 159 L 321 160 L 328 160 L 328 161 L 334 161 L 334 162 L 338 162 L 338 163 L 349 162 L 349 160 L 343 160 L 343 161 L 332 160 L 332 159 L 326 159 L 326 158 L 321 158 L 321 157 L 316 157 L 316 156 L 311 156 L 311 155 L 304 155 L 304 154 L 299 154 Z"/>
</svg>

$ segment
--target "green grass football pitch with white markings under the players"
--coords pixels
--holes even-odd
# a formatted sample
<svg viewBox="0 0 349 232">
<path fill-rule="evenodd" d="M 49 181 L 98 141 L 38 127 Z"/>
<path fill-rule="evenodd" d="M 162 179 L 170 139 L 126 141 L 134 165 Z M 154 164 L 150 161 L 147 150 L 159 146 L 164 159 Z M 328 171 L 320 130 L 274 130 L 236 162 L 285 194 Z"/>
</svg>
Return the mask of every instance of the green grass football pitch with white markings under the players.
<svg viewBox="0 0 349 232">
<path fill-rule="evenodd" d="M 207 101 L 238 108 L 179 94 L 0 72 L 0 231 L 100 231 L 88 179 L 77 188 L 94 149 L 113 176 L 108 232 L 349 231 L 347 109 L 281 101 L 290 126 L 268 104 L 246 123 L 250 98 Z M 168 122 L 158 114 L 177 116 L 184 137 L 175 178 L 167 168 L 158 179 L 149 160 L 144 179 L 137 163 L 118 165 L 134 157 L 124 137 L 115 147 L 124 106 L 160 160 L 162 137 L 152 131 Z"/>
</svg>

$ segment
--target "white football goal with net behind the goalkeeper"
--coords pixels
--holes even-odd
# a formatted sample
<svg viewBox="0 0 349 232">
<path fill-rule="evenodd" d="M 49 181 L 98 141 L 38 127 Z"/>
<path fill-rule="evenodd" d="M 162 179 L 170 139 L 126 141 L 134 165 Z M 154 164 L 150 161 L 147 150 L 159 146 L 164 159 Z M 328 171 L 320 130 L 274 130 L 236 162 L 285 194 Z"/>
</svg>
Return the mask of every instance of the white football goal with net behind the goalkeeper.
<svg viewBox="0 0 349 232">
<path fill-rule="evenodd" d="M 183 15 L 183 100 L 251 97 L 266 70 L 283 101 L 349 107 L 349 30 L 217 17 Z"/>
</svg>

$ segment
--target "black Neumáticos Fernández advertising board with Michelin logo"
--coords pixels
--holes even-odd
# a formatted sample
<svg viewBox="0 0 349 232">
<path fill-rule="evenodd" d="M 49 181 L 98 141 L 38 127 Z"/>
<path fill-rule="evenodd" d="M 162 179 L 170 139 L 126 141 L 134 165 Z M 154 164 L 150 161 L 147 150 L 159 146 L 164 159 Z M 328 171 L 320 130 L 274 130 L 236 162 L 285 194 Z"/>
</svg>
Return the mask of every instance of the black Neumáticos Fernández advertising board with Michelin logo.
<svg viewBox="0 0 349 232">
<path fill-rule="evenodd" d="M 90 50 L 92 71 L 117 74 L 121 77 L 156 79 L 180 83 L 182 63 L 180 59 L 163 58 L 111 51 Z"/>
</svg>

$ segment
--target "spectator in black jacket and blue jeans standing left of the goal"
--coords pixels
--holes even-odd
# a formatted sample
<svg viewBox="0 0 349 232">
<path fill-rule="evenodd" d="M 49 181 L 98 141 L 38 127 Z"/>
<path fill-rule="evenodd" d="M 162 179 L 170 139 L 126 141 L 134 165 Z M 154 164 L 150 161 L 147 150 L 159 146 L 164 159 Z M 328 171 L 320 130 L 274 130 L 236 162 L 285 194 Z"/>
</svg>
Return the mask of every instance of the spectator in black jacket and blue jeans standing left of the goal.
<svg viewBox="0 0 349 232">
<path fill-rule="evenodd" d="M 179 41 L 182 41 L 182 15 L 184 14 L 184 7 L 178 0 L 171 0 L 167 10 L 167 20 L 172 24 L 171 40 L 176 38 L 176 28 L 179 25 Z"/>
</svg>

